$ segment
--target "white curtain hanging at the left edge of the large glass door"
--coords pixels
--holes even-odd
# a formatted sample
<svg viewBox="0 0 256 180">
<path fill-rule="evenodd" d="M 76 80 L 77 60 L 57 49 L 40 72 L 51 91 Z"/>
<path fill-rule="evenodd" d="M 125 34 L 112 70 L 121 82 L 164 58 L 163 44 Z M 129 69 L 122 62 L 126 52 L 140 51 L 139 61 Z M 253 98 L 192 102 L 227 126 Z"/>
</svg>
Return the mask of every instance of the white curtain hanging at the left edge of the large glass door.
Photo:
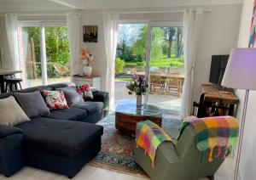
<svg viewBox="0 0 256 180">
<path fill-rule="evenodd" d="M 115 11 L 107 11 L 103 13 L 104 38 L 107 58 L 107 76 L 106 90 L 109 93 L 110 102 L 109 109 L 113 110 L 114 103 L 114 59 L 118 38 L 118 20 L 119 14 Z"/>
</svg>

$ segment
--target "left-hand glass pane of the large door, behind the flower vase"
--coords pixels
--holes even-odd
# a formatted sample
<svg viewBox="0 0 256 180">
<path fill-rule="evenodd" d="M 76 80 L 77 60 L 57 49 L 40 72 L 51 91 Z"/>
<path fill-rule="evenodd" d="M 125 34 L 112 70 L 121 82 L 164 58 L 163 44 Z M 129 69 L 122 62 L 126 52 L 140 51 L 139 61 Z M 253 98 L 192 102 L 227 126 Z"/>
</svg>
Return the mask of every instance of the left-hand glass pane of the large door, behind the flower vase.
<svg viewBox="0 0 256 180">
<path fill-rule="evenodd" d="M 145 74 L 148 25 L 120 24 L 115 59 L 115 105 L 132 104 L 136 95 L 129 95 L 126 84 L 134 74 Z M 119 106 L 125 107 L 125 106 Z"/>
</svg>

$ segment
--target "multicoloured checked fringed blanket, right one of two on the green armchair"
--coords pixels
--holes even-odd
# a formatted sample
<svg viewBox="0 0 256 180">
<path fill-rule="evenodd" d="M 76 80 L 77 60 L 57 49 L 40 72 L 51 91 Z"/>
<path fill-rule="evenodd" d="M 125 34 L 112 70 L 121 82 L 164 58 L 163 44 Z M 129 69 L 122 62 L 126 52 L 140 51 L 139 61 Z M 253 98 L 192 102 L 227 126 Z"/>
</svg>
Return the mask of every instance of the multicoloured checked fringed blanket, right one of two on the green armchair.
<svg viewBox="0 0 256 180">
<path fill-rule="evenodd" d="M 220 156 L 222 149 L 224 149 L 225 158 L 236 145 L 239 124 L 234 117 L 215 116 L 199 119 L 190 116 L 183 121 L 181 132 L 189 124 L 195 128 L 197 148 L 201 152 L 209 149 L 209 161 L 212 161 L 214 148 L 218 147 L 216 158 Z"/>
</svg>

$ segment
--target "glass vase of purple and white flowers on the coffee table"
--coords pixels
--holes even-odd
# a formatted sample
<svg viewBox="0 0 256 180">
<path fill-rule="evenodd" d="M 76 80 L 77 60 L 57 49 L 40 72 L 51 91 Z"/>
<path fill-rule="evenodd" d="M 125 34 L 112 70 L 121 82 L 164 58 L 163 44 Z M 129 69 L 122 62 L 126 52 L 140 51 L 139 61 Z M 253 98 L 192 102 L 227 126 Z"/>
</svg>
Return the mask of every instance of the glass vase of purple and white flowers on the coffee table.
<svg viewBox="0 0 256 180">
<path fill-rule="evenodd" d="M 143 105 L 143 95 L 148 92 L 148 78 L 144 76 L 132 76 L 133 81 L 127 84 L 129 95 L 135 93 L 137 96 L 137 111 L 141 109 Z"/>
</svg>

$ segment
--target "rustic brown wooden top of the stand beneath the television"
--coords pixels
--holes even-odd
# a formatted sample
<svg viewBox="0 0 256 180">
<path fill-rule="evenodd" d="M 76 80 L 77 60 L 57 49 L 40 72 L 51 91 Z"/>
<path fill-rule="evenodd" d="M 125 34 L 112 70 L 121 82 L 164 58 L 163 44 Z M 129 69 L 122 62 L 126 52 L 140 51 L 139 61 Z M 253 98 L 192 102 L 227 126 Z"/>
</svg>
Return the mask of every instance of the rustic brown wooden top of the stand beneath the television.
<svg viewBox="0 0 256 180">
<path fill-rule="evenodd" d="M 205 94 L 206 101 L 222 101 L 227 104 L 239 103 L 239 99 L 230 89 L 219 90 L 216 85 L 202 84 L 201 91 Z"/>
</svg>

